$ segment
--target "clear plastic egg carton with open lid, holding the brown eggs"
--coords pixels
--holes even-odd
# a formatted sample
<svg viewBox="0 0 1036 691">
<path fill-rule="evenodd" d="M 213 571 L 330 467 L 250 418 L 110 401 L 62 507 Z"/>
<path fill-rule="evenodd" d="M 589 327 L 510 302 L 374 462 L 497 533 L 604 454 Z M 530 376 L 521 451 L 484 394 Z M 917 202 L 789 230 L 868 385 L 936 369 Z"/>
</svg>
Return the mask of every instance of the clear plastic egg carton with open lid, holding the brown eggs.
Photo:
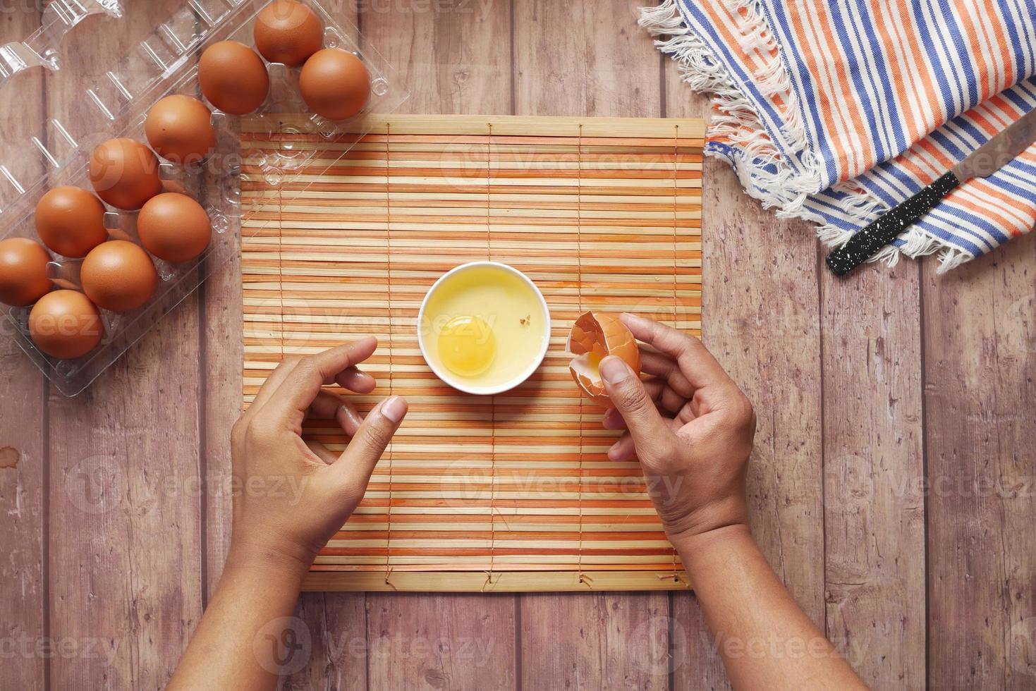
<svg viewBox="0 0 1036 691">
<path fill-rule="evenodd" d="M 338 0 L 326 0 L 328 6 Z M 303 0 L 325 26 L 324 48 L 343 48 L 356 54 L 371 75 L 371 95 L 367 106 L 355 117 L 333 122 L 316 114 L 299 125 L 283 125 L 275 113 L 311 113 L 298 92 L 298 68 L 267 63 L 270 90 L 266 102 L 256 111 L 270 114 L 260 118 L 268 124 L 271 137 L 317 134 L 332 140 L 349 133 L 365 135 L 370 127 L 365 116 L 391 113 L 409 95 L 399 83 L 392 67 L 366 40 L 362 41 L 355 26 L 327 11 L 320 0 Z M 160 156 L 161 177 L 167 191 L 182 191 L 194 197 L 206 210 L 212 225 L 212 239 L 200 257 L 181 264 L 170 264 L 152 257 L 159 275 L 154 294 L 142 308 L 116 314 L 100 310 L 105 336 L 99 345 L 75 359 L 57 359 L 42 353 L 29 335 L 28 318 L 31 306 L 16 308 L 0 305 L 4 330 L 9 332 L 19 346 L 65 396 L 76 396 L 102 372 L 118 359 L 159 319 L 201 285 L 206 276 L 238 252 L 235 231 L 240 228 L 240 168 L 242 156 L 238 133 L 240 117 L 219 111 L 208 103 L 198 88 L 197 62 L 202 51 L 220 40 L 236 40 L 254 48 L 253 25 L 268 0 L 186 0 L 166 21 L 110 69 L 99 83 L 87 85 L 83 98 L 93 108 L 93 118 L 76 121 L 51 119 L 44 125 L 41 137 L 31 141 L 35 151 L 49 166 L 38 179 L 22 179 L 17 171 L 0 161 L 0 239 L 21 236 L 38 241 L 33 212 L 36 202 L 50 189 L 71 184 L 93 192 L 88 178 L 90 153 L 98 144 L 112 138 L 127 137 L 147 144 L 144 120 L 147 112 L 161 98 L 185 94 L 200 98 L 212 111 L 217 145 L 212 153 L 199 165 L 182 167 Z M 31 67 L 61 68 L 61 56 L 75 45 L 76 25 L 95 13 L 121 17 L 118 0 L 55 0 L 44 15 L 42 26 L 23 42 L 0 47 L 0 94 L 11 97 L 9 84 L 18 81 L 17 74 Z M 265 60 L 264 60 L 265 61 Z M 253 114 L 254 116 L 254 114 Z M 253 129 L 254 132 L 254 129 Z M 259 133 L 262 134 L 261 131 Z M 285 147 L 286 148 L 286 147 Z M 347 148 L 347 147 L 346 147 Z M 268 184 L 290 182 L 293 171 L 307 166 L 316 152 L 299 148 L 282 154 L 254 156 L 260 175 Z M 345 150 L 342 151 L 344 155 Z M 309 171 L 312 172 L 312 171 Z M 295 190 L 280 195 L 279 203 L 305 192 Z M 105 224 L 110 239 L 138 242 L 137 211 L 123 211 L 106 205 Z M 258 228 L 250 228 L 255 232 Z M 50 252 L 50 251 L 49 251 Z M 79 268 L 82 259 L 54 255 L 48 265 L 56 288 L 79 289 Z"/>
</svg>

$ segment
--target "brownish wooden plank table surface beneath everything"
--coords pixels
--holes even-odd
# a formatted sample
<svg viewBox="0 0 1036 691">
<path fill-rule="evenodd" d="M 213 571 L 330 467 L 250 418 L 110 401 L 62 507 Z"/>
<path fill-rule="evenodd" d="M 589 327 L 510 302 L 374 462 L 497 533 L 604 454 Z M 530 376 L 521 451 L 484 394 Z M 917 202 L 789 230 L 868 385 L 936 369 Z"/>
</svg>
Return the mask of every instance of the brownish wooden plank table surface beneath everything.
<svg viewBox="0 0 1036 691">
<path fill-rule="evenodd" d="M 0 44 L 38 26 L 33 4 L 4 8 Z M 76 29 L 64 70 L 0 91 L 4 142 L 75 117 L 86 81 L 170 10 L 123 4 Z M 637 4 L 364 0 L 358 25 L 407 112 L 701 115 Z M 1036 234 L 944 277 L 928 260 L 835 280 L 810 226 L 760 210 L 724 165 L 704 190 L 704 341 L 758 414 L 749 491 L 771 564 L 872 686 L 1031 688 Z M 239 268 L 222 267 L 75 399 L 3 341 L 3 688 L 168 681 L 229 539 L 239 310 Z M 725 636 L 691 594 L 308 594 L 298 614 L 314 649 L 291 688 L 727 686 Z"/>
</svg>

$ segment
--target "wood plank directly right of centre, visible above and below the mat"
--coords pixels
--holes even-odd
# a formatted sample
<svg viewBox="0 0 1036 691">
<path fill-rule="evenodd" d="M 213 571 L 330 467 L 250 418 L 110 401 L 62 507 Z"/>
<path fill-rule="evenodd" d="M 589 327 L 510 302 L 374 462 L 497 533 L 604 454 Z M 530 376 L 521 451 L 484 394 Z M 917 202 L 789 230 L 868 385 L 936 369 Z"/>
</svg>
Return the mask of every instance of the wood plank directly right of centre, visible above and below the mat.
<svg viewBox="0 0 1036 691">
<path fill-rule="evenodd" d="M 514 2 L 515 112 L 658 117 L 660 58 L 636 0 Z M 617 35 L 616 35 L 617 34 Z M 522 595 L 522 688 L 667 688 L 662 594 Z M 639 632 L 639 633 L 637 633 Z"/>
</svg>

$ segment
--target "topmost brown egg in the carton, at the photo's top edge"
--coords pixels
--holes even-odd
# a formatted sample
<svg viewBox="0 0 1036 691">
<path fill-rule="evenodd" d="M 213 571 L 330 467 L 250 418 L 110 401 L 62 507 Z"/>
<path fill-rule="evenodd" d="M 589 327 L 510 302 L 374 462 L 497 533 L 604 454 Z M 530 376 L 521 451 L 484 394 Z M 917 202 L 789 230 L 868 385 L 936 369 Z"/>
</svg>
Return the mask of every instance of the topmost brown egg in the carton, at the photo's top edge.
<svg viewBox="0 0 1036 691">
<path fill-rule="evenodd" d="M 270 62 L 299 67 L 323 46 L 323 24 L 295 0 L 274 0 L 256 17 L 256 50 Z"/>
</svg>

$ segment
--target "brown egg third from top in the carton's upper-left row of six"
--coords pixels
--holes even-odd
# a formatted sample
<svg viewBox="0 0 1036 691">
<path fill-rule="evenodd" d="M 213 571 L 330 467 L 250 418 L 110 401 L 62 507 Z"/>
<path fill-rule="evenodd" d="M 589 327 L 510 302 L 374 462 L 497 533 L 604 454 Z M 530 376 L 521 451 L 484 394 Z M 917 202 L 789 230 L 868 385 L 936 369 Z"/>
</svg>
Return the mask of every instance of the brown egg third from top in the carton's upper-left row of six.
<svg viewBox="0 0 1036 691">
<path fill-rule="evenodd" d="M 175 164 L 198 163 L 215 146 L 212 112 L 191 96 L 166 96 L 147 112 L 147 143 Z"/>
</svg>

